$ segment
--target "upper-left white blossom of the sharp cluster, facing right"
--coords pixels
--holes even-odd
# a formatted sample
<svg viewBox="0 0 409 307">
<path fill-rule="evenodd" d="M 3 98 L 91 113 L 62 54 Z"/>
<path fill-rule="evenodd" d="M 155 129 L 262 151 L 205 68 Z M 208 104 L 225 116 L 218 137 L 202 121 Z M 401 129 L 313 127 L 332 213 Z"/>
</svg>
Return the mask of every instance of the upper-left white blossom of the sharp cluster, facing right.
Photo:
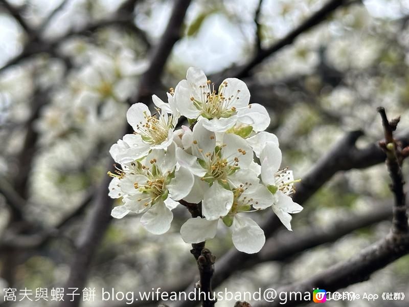
<svg viewBox="0 0 409 307">
<path fill-rule="evenodd" d="M 152 96 L 157 106 L 154 115 L 144 103 L 130 106 L 126 118 L 134 134 L 125 135 L 123 140 L 111 146 L 109 152 L 116 162 L 128 163 L 137 160 L 146 156 L 151 149 L 166 149 L 173 142 L 178 113 L 172 95 L 168 98 L 169 103 L 165 103 L 157 96 Z M 162 111 L 159 106 L 162 107 Z"/>
</svg>

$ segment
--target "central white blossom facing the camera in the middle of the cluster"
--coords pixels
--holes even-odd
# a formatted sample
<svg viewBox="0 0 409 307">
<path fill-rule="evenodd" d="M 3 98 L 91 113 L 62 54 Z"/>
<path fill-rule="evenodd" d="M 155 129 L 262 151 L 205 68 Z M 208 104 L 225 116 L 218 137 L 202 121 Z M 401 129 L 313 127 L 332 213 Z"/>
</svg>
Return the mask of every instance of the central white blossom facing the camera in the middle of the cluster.
<svg viewBox="0 0 409 307">
<path fill-rule="evenodd" d="M 253 151 L 245 140 L 234 134 L 225 134 L 216 144 L 214 132 L 207 130 L 199 121 L 193 128 L 192 155 L 181 148 L 176 157 L 181 166 L 188 168 L 200 181 L 195 180 L 191 194 L 202 198 L 202 213 L 208 220 L 226 215 L 232 205 L 231 176 L 238 169 L 248 169 L 253 162 Z M 191 194 L 188 195 L 192 199 Z"/>
</svg>

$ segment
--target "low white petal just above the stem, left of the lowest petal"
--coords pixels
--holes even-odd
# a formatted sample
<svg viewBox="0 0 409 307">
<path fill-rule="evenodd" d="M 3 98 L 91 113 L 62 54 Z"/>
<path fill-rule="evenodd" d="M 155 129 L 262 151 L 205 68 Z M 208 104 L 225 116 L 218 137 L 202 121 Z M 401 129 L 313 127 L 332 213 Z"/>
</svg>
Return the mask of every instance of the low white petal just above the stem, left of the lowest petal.
<svg viewBox="0 0 409 307">
<path fill-rule="evenodd" d="M 214 238 L 218 220 L 208 221 L 206 218 L 189 218 L 180 227 L 180 235 L 186 243 L 199 243 Z"/>
</svg>

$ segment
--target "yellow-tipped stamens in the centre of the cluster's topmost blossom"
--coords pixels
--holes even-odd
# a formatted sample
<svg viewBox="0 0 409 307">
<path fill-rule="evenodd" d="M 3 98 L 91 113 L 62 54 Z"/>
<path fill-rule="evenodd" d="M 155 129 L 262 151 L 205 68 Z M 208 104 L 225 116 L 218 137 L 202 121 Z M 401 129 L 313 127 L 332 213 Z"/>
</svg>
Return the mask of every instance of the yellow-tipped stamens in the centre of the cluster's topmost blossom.
<svg viewBox="0 0 409 307">
<path fill-rule="evenodd" d="M 211 87 L 212 85 L 212 87 Z M 200 97 L 191 97 L 190 100 L 194 106 L 199 109 L 202 113 L 201 116 L 212 119 L 212 118 L 227 118 L 236 114 L 236 107 L 233 105 L 236 100 L 239 99 L 238 94 L 240 90 L 237 90 L 237 94 L 231 97 L 224 96 L 224 89 L 228 86 L 228 82 L 224 81 L 220 85 L 220 91 L 217 94 L 214 90 L 214 83 L 210 80 L 207 81 L 206 85 L 200 85 Z"/>
</svg>

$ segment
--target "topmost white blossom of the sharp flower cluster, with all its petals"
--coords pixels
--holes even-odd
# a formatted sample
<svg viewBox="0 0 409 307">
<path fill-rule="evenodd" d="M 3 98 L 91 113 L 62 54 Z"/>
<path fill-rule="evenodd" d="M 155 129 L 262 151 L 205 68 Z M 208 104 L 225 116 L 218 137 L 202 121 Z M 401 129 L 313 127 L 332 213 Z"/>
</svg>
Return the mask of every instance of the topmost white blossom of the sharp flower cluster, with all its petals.
<svg viewBox="0 0 409 307">
<path fill-rule="evenodd" d="M 260 104 L 248 104 L 250 92 L 247 85 L 236 78 L 228 78 L 220 84 L 218 92 L 205 73 L 189 68 L 186 80 L 175 89 L 175 103 L 181 115 L 189 119 L 203 120 L 203 126 L 211 131 L 226 131 L 236 122 L 251 125 L 262 131 L 270 123 L 266 109 Z"/>
</svg>

